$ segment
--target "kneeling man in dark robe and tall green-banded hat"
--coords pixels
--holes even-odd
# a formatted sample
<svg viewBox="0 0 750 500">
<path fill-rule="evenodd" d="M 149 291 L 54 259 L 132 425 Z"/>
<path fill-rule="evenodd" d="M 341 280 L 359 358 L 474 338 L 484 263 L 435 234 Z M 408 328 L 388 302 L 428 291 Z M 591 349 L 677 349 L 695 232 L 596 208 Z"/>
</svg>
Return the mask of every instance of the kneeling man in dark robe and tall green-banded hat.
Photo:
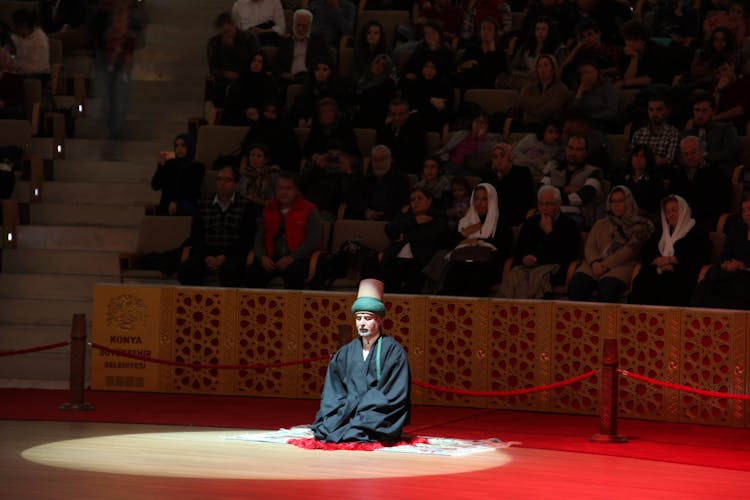
<svg viewBox="0 0 750 500">
<path fill-rule="evenodd" d="M 359 338 L 342 347 L 328 365 L 315 438 L 395 441 L 411 416 L 411 375 L 404 349 L 383 329 L 383 283 L 362 280 L 352 304 Z"/>
</svg>

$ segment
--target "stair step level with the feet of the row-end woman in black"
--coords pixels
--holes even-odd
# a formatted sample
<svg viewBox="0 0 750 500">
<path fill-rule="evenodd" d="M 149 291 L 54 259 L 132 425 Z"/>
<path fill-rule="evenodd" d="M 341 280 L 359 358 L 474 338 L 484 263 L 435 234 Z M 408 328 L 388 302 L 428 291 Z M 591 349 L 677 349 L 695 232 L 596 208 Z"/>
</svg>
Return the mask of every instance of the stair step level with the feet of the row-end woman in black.
<svg viewBox="0 0 750 500">
<path fill-rule="evenodd" d="M 31 204 L 31 224 L 37 226 L 138 227 L 143 205 Z"/>
</svg>

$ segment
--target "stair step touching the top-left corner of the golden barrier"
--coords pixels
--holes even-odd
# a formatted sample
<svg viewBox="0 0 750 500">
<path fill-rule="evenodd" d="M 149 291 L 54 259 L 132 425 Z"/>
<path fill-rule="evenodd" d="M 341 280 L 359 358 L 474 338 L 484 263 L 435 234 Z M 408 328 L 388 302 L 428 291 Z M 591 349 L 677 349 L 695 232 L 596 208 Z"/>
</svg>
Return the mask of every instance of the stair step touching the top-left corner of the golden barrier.
<svg viewBox="0 0 750 500">
<path fill-rule="evenodd" d="M 97 283 L 118 283 L 116 276 L 73 274 L 0 274 L 0 298 L 91 300 Z"/>
</svg>

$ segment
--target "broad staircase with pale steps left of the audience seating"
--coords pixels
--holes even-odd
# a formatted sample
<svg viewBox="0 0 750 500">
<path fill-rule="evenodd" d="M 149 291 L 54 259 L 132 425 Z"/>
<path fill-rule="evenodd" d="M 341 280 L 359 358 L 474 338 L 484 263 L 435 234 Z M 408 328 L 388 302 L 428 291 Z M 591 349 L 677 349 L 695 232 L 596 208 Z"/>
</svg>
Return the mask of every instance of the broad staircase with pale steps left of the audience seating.
<svg viewBox="0 0 750 500">
<path fill-rule="evenodd" d="M 94 285 L 120 281 L 119 254 L 135 250 L 144 205 L 158 201 L 150 187 L 158 152 L 171 148 L 188 118 L 203 116 L 206 41 L 232 3 L 148 1 L 145 46 L 135 54 L 123 139 L 115 143 L 105 140 L 94 81 L 90 112 L 77 118 L 65 159 L 54 161 L 43 201 L 30 205 L 18 248 L 2 252 L 0 351 L 69 340 L 75 313 L 85 313 L 90 328 Z M 52 158 L 51 140 L 35 138 L 32 154 Z M 28 182 L 15 193 L 28 203 Z M 65 387 L 68 355 L 61 348 L 1 358 L 0 385 Z"/>
</svg>

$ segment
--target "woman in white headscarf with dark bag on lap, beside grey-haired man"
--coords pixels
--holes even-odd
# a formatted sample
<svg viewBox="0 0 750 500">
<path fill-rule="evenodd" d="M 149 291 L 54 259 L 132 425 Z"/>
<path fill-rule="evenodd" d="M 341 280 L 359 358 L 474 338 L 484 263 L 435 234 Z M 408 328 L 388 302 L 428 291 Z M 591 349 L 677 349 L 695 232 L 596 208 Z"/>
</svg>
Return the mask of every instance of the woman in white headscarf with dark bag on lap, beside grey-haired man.
<svg viewBox="0 0 750 500">
<path fill-rule="evenodd" d="M 492 184 L 483 182 L 474 188 L 458 232 L 460 241 L 447 256 L 443 295 L 486 297 L 490 286 L 502 279 L 502 263 L 513 238 Z"/>
</svg>

